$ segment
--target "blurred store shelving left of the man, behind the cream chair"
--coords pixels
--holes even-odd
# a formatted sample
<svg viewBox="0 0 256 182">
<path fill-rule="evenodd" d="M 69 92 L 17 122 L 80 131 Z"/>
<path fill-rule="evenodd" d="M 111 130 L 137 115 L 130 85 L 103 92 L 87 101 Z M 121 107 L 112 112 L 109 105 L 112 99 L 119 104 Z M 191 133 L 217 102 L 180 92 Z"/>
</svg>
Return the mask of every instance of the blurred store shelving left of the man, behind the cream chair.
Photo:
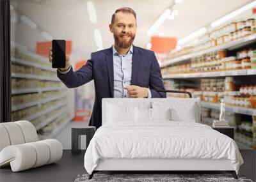
<svg viewBox="0 0 256 182">
<path fill-rule="evenodd" d="M 12 121 L 28 120 L 40 139 L 56 137 L 74 119 L 73 89 L 56 76 L 47 58 L 12 45 Z"/>
</svg>

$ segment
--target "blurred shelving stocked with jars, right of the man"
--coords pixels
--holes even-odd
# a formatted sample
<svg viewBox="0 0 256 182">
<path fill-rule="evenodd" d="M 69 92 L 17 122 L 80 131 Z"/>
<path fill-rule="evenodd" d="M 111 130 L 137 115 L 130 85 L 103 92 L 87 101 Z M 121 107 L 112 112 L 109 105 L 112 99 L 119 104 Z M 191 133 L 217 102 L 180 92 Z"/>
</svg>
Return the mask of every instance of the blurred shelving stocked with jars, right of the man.
<svg viewBox="0 0 256 182">
<path fill-rule="evenodd" d="M 252 19 L 250 20 L 252 21 Z M 232 23 L 223 27 L 230 25 Z M 221 28 L 218 27 L 212 32 L 227 31 L 228 29 Z M 246 28 L 248 29 L 247 26 Z M 235 140 L 240 149 L 256 149 L 256 107 L 252 107 L 250 104 L 252 96 L 256 97 L 256 67 L 252 66 L 256 61 L 256 33 L 253 30 L 255 31 L 255 27 L 252 28 L 250 34 L 243 34 L 241 38 L 230 41 L 225 40 L 230 36 L 227 32 L 216 39 L 211 35 L 212 32 L 208 35 L 205 34 L 202 43 L 197 47 L 188 47 L 183 52 L 182 50 L 179 50 L 180 52 L 173 51 L 168 56 L 172 58 L 166 59 L 160 64 L 166 89 L 191 91 L 193 97 L 201 99 L 202 123 L 211 126 L 212 121 L 219 117 L 220 100 L 225 101 L 227 120 L 236 129 Z M 220 34 L 220 32 L 218 33 Z M 205 39 L 211 43 L 213 41 L 214 45 L 210 46 L 211 43 L 207 44 L 207 41 L 205 43 Z M 206 45 L 207 48 L 204 49 L 200 45 Z M 239 57 L 241 55 L 244 57 Z M 228 57 L 234 57 L 232 64 L 225 62 Z M 249 60 L 248 63 L 244 64 L 243 59 Z M 227 65 L 236 65 L 235 61 L 240 63 L 236 68 L 226 69 Z M 248 66 L 249 64 L 250 66 Z M 214 66 L 216 68 L 212 68 Z M 178 68 L 180 72 L 177 71 Z M 239 87 L 236 86 L 232 91 L 227 91 L 227 80 L 238 80 Z M 204 84 L 207 86 L 204 87 Z M 217 88 L 212 89 L 213 85 Z M 246 87 L 245 92 L 242 88 L 244 86 Z M 175 95 L 168 97 L 170 96 Z M 179 96 L 184 97 L 184 95 Z"/>
</svg>

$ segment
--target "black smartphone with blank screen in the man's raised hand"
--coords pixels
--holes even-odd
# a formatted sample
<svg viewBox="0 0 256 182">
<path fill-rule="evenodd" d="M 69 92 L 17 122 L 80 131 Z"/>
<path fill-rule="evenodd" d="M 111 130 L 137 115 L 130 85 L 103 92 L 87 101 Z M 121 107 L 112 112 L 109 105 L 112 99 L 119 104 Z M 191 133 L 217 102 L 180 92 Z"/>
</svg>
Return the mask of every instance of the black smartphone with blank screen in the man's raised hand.
<svg viewBox="0 0 256 182">
<path fill-rule="evenodd" d="M 52 40 L 52 68 L 66 67 L 66 41 Z"/>
</svg>

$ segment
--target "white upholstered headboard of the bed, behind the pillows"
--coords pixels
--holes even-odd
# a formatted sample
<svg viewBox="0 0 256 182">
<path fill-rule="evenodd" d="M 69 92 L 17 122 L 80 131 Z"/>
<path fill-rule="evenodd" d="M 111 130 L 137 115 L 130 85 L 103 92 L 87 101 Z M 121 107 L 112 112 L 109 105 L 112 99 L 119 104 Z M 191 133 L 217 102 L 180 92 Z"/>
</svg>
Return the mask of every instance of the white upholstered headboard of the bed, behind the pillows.
<svg viewBox="0 0 256 182">
<path fill-rule="evenodd" d="M 103 98 L 102 99 L 102 125 L 109 122 L 109 114 L 115 114 L 110 110 L 112 105 L 118 107 L 144 107 L 156 109 L 173 109 L 177 114 L 187 113 L 187 118 L 200 123 L 200 99 L 199 98 Z M 178 120 L 177 120 L 178 121 Z"/>
</svg>

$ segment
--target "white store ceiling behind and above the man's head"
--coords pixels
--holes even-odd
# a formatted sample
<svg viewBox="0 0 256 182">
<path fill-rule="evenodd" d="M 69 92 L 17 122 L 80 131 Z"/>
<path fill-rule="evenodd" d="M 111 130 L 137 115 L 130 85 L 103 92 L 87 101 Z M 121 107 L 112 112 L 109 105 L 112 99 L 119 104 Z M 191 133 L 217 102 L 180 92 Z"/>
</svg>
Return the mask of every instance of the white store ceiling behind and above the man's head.
<svg viewBox="0 0 256 182">
<path fill-rule="evenodd" d="M 88 17 L 86 0 L 11 0 L 11 4 L 22 15 L 33 20 L 40 29 L 47 31 L 54 39 L 72 40 L 74 54 L 83 59 L 97 50 L 93 31 L 99 29 L 103 47 L 113 44 L 113 35 L 108 25 L 111 15 L 117 8 L 129 6 L 137 13 L 138 29 L 134 45 L 146 47 L 150 42 L 147 31 L 173 0 L 92 0 L 97 23 L 92 24 Z M 177 4 L 179 15 L 174 20 L 166 20 L 157 33 L 164 36 L 182 38 L 209 24 L 230 11 L 248 4 L 252 0 L 184 0 Z M 17 25 L 15 41 L 35 50 L 36 41 L 45 41 L 40 32 L 25 25 Z"/>
</svg>

